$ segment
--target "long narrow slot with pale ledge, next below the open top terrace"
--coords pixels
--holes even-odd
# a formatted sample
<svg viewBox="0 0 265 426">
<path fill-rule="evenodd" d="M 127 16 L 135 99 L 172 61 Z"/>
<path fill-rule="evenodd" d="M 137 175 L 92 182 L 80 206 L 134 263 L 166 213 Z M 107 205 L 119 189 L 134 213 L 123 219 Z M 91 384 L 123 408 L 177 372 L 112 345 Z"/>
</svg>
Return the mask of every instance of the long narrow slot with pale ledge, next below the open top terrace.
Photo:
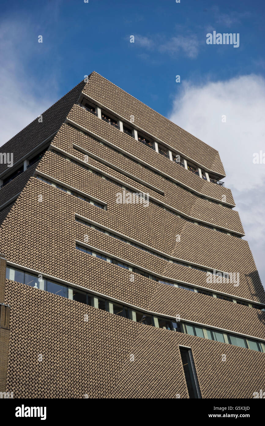
<svg viewBox="0 0 265 426">
<path fill-rule="evenodd" d="M 73 124 L 71 124 L 71 123 L 67 123 L 67 124 L 68 124 L 68 126 L 73 127 L 73 128 L 74 128 L 75 130 L 77 130 L 78 132 L 83 133 L 85 136 L 89 136 L 89 135 L 87 135 L 85 132 L 83 132 L 82 130 L 80 130 L 78 127 L 74 126 Z M 224 207 L 224 208 L 229 208 L 229 209 L 232 209 L 232 208 L 233 208 L 233 207 L 228 206 L 228 205 L 226 205 L 226 204 L 225 204 L 225 205 L 224 205 L 224 204 L 222 204 L 222 202 L 221 202 L 221 201 L 216 201 L 216 200 L 214 200 L 214 199 L 211 199 L 211 200 L 210 200 L 210 199 L 208 199 L 207 197 L 204 197 L 204 196 L 202 196 L 202 195 L 199 195 L 199 194 L 194 193 L 192 190 L 189 190 L 188 188 L 186 188 L 186 187 L 182 186 L 181 184 L 179 184 L 179 183 L 175 182 L 175 181 L 174 181 L 173 179 L 171 179 L 169 176 L 165 176 L 164 174 L 161 174 L 161 173 L 159 173 L 158 171 L 153 170 L 151 167 L 148 167 L 148 165 L 147 165 L 147 164 L 142 164 L 140 161 L 134 160 L 134 158 L 131 158 L 129 155 L 126 155 L 126 154 L 122 153 L 120 150 L 118 150 L 118 147 L 117 147 L 117 149 L 116 149 L 116 148 L 112 147 L 111 145 L 105 144 L 103 141 L 100 141 L 99 139 L 95 138 L 94 136 L 93 136 L 93 137 L 92 137 L 92 136 L 89 136 L 89 137 L 90 137 L 90 138 L 92 138 L 92 139 L 94 139 L 94 140 L 95 140 L 95 141 L 97 141 L 99 144 L 103 145 L 104 147 L 111 149 L 112 151 L 114 151 L 114 152 L 116 152 L 116 153 L 118 153 L 118 154 L 122 155 L 122 156 L 123 156 L 123 157 L 125 157 L 125 158 L 128 158 L 129 160 L 133 161 L 135 164 L 138 164 L 139 166 L 143 167 L 143 168 L 144 168 L 144 169 L 146 169 L 146 170 L 150 170 L 150 171 L 151 171 L 152 173 L 154 173 L 155 175 L 160 176 L 161 178 L 165 179 L 166 181 L 171 182 L 171 183 L 172 183 L 172 184 L 174 184 L 175 186 L 177 186 L 177 187 L 180 187 L 180 188 L 184 189 L 184 190 L 185 190 L 185 191 L 187 191 L 188 193 L 191 193 L 192 195 L 194 195 L 194 196 L 196 196 L 196 197 L 198 197 L 198 198 L 200 198 L 200 199 L 206 200 L 206 201 L 208 201 L 208 202 L 210 202 L 210 203 L 218 204 L 219 206 L 222 206 L 222 207 Z"/>
</svg>

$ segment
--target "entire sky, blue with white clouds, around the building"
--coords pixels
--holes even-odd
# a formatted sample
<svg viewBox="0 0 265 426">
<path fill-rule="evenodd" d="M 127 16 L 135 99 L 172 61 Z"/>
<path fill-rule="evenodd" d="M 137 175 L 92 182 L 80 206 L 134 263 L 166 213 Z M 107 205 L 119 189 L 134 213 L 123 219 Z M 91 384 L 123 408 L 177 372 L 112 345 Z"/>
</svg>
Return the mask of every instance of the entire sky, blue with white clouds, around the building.
<svg viewBox="0 0 265 426">
<path fill-rule="evenodd" d="M 99 72 L 219 150 L 264 283 L 265 164 L 252 161 L 265 152 L 264 1 L 0 5 L 0 145 Z M 239 47 L 207 45 L 214 30 L 239 33 Z"/>
</svg>

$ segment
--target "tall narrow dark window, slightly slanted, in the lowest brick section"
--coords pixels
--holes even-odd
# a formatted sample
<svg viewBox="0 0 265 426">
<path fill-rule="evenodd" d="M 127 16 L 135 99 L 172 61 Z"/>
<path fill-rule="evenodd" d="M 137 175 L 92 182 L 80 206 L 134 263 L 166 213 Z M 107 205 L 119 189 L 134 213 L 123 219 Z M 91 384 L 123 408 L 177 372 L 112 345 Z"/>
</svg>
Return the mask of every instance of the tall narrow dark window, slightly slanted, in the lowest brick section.
<svg viewBox="0 0 265 426">
<path fill-rule="evenodd" d="M 201 398 L 191 349 L 181 348 L 180 355 L 190 398 Z"/>
</svg>

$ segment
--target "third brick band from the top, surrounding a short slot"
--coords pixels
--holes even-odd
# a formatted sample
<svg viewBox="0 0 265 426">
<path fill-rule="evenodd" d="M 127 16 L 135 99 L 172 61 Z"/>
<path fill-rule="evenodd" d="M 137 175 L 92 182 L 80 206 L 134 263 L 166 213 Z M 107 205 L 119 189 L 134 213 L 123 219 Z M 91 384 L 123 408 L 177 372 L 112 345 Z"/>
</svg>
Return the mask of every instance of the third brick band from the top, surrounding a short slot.
<svg viewBox="0 0 265 426">
<path fill-rule="evenodd" d="M 235 230 L 239 233 L 244 233 L 237 211 L 227 207 L 219 206 L 215 203 L 210 203 L 206 199 L 199 198 L 195 194 L 192 194 L 189 191 L 185 190 L 183 187 L 174 185 L 172 182 L 167 181 L 165 178 L 158 176 L 150 170 L 146 170 L 139 164 L 135 164 L 134 161 L 125 158 L 124 156 L 114 152 L 110 148 L 104 147 L 99 142 L 83 135 L 72 127 L 69 127 L 64 124 L 57 133 L 54 140 L 52 141 L 53 146 L 56 146 L 84 161 L 84 154 L 74 149 L 73 143 L 77 144 L 78 146 L 91 153 L 94 153 L 98 157 L 109 161 L 114 166 L 120 167 L 121 169 L 131 173 L 132 175 L 141 178 L 143 181 L 159 188 L 160 190 L 163 190 L 165 195 L 161 195 L 156 191 L 150 190 L 148 187 L 145 187 L 139 184 L 138 182 L 127 178 L 124 174 L 115 171 L 111 167 L 105 166 L 104 164 L 94 160 L 93 158 L 89 158 L 88 164 L 91 164 L 94 167 L 105 171 L 111 176 L 117 177 L 123 182 L 137 187 L 137 189 L 139 190 L 148 192 L 150 196 L 153 196 L 154 198 L 164 202 L 165 204 L 168 204 L 169 206 L 180 210 L 182 213 L 185 213 L 188 216 L 192 216 L 195 219 L 209 222 L 213 225 L 222 226 L 226 229 Z M 52 165 L 54 164 L 54 162 L 49 161 L 47 156 L 45 158 L 45 161 L 46 164 L 44 165 L 42 162 L 41 165 L 38 167 L 38 170 L 42 170 L 43 172 L 45 172 L 45 169 L 48 167 L 50 170 L 52 167 L 54 168 L 54 166 Z M 57 174 L 60 174 L 59 170 Z"/>
</svg>

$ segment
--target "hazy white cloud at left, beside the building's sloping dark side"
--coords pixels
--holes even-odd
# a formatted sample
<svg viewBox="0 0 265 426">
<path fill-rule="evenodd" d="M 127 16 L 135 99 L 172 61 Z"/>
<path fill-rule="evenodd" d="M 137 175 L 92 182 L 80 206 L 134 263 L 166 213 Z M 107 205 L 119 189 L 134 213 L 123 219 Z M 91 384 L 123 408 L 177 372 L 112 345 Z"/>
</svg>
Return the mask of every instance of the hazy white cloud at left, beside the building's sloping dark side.
<svg viewBox="0 0 265 426">
<path fill-rule="evenodd" d="M 28 74 L 30 55 L 40 47 L 32 28 L 26 17 L 23 24 L 20 20 L 0 23 L 0 146 L 50 107 L 56 96 L 53 76 L 47 82 Z"/>
</svg>

